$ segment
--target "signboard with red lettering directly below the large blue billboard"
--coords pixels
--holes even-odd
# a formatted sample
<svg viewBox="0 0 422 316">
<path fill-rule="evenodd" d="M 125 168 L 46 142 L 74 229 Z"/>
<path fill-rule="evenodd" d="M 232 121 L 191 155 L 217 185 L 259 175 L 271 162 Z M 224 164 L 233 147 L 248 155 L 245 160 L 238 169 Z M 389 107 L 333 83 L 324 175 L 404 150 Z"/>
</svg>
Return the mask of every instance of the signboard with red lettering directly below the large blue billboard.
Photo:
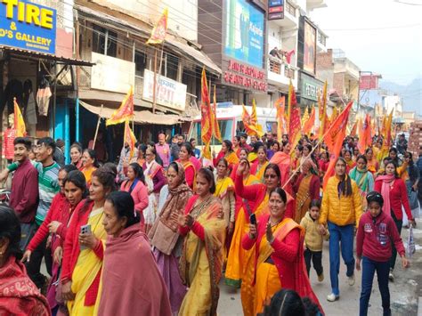
<svg viewBox="0 0 422 316">
<path fill-rule="evenodd" d="M 263 92 L 266 92 L 268 88 L 264 71 L 233 60 L 229 61 L 223 73 L 223 82 Z"/>
</svg>

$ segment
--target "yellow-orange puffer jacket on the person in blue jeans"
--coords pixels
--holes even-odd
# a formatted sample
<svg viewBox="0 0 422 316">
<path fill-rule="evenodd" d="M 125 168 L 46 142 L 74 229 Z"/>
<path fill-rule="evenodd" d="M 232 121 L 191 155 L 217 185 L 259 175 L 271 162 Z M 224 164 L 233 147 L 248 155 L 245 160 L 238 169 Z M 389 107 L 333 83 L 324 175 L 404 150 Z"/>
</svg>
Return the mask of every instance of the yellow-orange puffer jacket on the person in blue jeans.
<svg viewBox="0 0 422 316">
<path fill-rule="evenodd" d="M 348 176 L 348 175 L 347 175 Z M 359 225 L 362 214 L 361 195 L 356 182 L 352 181 L 352 195 L 338 196 L 338 178 L 336 175 L 329 178 L 327 187 L 322 196 L 320 223 L 327 221 L 338 226 L 355 224 Z"/>
</svg>

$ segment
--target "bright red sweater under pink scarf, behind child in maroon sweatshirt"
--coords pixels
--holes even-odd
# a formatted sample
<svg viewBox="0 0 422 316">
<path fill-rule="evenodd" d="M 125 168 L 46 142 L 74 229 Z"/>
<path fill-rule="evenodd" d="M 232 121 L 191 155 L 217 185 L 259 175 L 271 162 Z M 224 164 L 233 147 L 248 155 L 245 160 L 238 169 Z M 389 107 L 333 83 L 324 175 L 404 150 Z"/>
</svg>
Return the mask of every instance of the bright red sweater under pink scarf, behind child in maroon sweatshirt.
<svg viewBox="0 0 422 316">
<path fill-rule="evenodd" d="M 377 179 L 375 181 L 374 190 L 381 193 L 382 187 L 382 180 Z M 390 207 L 394 212 L 395 218 L 399 221 L 402 221 L 403 219 L 402 206 L 404 207 L 404 211 L 406 212 L 406 215 L 408 215 L 408 218 L 412 220 L 413 216 L 410 211 L 406 184 L 404 184 L 402 179 L 394 179 L 393 186 L 390 187 Z"/>
</svg>

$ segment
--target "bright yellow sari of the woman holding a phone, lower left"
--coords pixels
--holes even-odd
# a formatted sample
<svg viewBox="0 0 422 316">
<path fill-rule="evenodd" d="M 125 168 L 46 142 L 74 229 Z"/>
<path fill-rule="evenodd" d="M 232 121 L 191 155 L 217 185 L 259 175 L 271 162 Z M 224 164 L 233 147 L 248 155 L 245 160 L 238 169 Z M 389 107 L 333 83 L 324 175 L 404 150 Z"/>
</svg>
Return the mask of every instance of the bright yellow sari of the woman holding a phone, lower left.
<svg viewBox="0 0 422 316">
<path fill-rule="evenodd" d="M 104 245 L 107 234 L 101 223 L 103 212 L 102 207 L 93 210 L 88 217 L 87 224 L 91 225 L 91 231 L 95 238 L 100 239 Z M 81 249 L 72 273 L 72 292 L 76 296 L 74 301 L 68 301 L 70 315 L 93 315 L 94 305 L 85 306 L 85 294 L 101 272 L 101 267 L 102 260 L 95 255 L 92 249 Z"/>
</svg>

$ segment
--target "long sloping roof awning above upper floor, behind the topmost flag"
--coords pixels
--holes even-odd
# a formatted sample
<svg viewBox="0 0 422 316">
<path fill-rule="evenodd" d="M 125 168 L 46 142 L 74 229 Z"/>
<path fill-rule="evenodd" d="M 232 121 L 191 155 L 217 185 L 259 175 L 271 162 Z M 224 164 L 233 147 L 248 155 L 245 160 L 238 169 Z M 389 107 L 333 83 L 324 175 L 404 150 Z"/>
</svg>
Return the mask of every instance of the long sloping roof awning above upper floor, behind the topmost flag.
<svg viewBox="0 0 422 316">
<path fill-rule="evenodd" d="M 101 5 L 97 2 L 94 2 L 94 3 Z M 111 4 L 108 4 L 107 6 L 105 5 L 101 5 L 101 6 L 104 7 L 105 9 L 109 9 L 115 12 L 117 11 L 122 14 L 126 14 L 135 18 L 133 15 L 130 15 L 130 13 L 123 11 L 121 8 L 117 6 L 111 7 L 112 6 Z M 105 26 L 109 25 L 110 27 L 114 27 L 114 28 L 121 28 L 121 26 L 123 25 L 127 29 L 133 30 L 132 34 L 134 34 L 134 36 L 145 36 L 145 38 L 148 38 L 150 36 L 151 28 L 147 26 L 142 26 L 142 24 L 140 23 L 135 25 L 134 23 L 129 23 L 126 20 L 118 19 L 104 12 L 97 12 L 93 9 L 87 8 L 86 6 L 82 6 L 82 5 L 75 4 L 74 7 L 77 9 L 78 12 L 83 12 L 84 17 L 85 16 L 94 17 L 95 20 L 91 19 L 93 23 L 98 23 L 100 25 L 105 25 Z M 88 18 L 87 20 L 90 20 L 90 19 Z M 145 24 L 145 22 L 142 22 L 142 23 Z M 209 70 L 215 72 L 216 74 L 218 75 L 222 74 L 222 69 L 220 69 L 217 65 L 215 65 L 215 63 L 211 61 L 211 59 L 207 56 L 207 54 L 199 51 L 198 49 L 196 49 L 195 47 L 191 45 L 188 45 L 187 41 L 184 40 L 182 37 L 178 38 L 178 36 L 175 36 L 167 32 L 165 44 L 171 45 L 175 51 L 181 53 L 182 55 L 189 54 L 193 59 L 195 59 L 196 61 L 199 61 L 199 63 L 206 66 Z"/>
</svg>

